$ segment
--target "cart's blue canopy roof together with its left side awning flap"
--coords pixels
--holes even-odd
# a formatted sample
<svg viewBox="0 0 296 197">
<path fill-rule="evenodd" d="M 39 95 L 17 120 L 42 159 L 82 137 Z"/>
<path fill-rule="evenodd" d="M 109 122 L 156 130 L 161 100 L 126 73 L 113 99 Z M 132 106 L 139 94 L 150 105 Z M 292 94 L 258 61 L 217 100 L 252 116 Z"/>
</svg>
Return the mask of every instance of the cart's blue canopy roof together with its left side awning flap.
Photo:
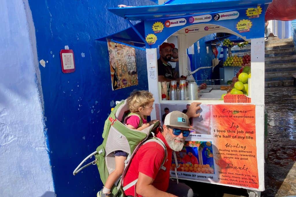
<svg viewBox="0 0 296 197">
<path fill-rule="evenodd" d="M 269 4 L 271 2 L 272 0 L 186 0 L 186 2 L 184 0 L 168 0 L 163 5 L 109 8 L 108 10 L 128 20 L 142 21 L 134 25 L 134 27 L 142 38 L 145 38 L 145 20 L 231 11 L 246 6 L 256 7 L 258 4 Z M 120 42 L 133 42 L 136 47 L 144 47 L 147 44 L 132 27 L 96 40 L 106 41 L 106 38 Z"/>
</svg>

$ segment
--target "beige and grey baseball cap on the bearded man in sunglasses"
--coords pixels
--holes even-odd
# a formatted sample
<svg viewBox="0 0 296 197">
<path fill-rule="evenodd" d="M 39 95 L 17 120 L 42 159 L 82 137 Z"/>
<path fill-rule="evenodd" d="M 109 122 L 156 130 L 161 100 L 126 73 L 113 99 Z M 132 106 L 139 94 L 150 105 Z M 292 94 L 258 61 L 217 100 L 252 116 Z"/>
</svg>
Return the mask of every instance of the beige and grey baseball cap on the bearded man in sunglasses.
<svg viewBox="0 0 296 197">
<path fill-rule="evenodd" d="M 180 111 L 172 111 L 165 116 L 165 125 L 171 127 L 182 127 L 182 128 L 189 128 L 189 118 L 186 114 Z"/>
</svg>

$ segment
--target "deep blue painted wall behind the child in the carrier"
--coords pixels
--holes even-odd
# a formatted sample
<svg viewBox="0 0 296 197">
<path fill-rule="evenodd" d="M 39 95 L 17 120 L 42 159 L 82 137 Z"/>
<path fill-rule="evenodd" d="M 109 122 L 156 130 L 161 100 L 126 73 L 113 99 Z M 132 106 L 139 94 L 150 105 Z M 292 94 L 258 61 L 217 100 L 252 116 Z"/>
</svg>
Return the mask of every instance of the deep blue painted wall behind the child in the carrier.
<svg viewBox="0 0 296 197">
<path fill-rule="evenodd" d="M 29 0 L 36 29 L 44 96 L 49 156 L 57 196 L 95 196 L 102 188 L 90 166 L 73 176 L 81 160 L 102 143 L 104 121 L 116 100 L 133 89 L 148 89 L 146 55 L 136 50 L 139 85 L 112 91 L 107 44 L 96 38 L 128 27 L 107 11 L 119 4 L 152 5 L 152 1 Z M 73 49 L 76 71 L 63 74 L 59 52 Z M 83 57 L 84 56 L 84 57 Z"/>
</svg>

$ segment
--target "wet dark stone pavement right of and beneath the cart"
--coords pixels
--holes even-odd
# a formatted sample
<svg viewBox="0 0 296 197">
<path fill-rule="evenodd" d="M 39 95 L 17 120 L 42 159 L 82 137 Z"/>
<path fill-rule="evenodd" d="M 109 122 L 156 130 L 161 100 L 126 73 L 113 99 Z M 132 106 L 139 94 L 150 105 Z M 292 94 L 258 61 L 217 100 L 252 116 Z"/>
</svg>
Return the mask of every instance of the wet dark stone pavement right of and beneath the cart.
<svg viewBox="0 0 296 197">
<path fill-rule="evenodd" d="M 268 114 L 265 191 L 262 197 L 296 196 L 296 87 L 266 87 Z M 244 197 L 246 189 L 186 182 L 196 196 Z"/>
</svg>

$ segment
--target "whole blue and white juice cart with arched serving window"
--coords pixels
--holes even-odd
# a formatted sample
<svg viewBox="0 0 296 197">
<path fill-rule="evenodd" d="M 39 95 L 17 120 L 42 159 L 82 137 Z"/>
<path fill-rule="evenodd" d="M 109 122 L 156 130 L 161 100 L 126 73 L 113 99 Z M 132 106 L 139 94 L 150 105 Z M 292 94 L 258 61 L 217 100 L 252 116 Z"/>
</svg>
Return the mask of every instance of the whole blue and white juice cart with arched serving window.
<svg viewBox="0 0 296 197">
<path fill-rule="evenodd" d="M 177 171 L 172 164 L 172 177 L 177 173 L 179 179 L 245 188 L 250 196 L 264 191 L 264 15 L 268 3 L 271 0 L 175 0 L 157 6 L 109 9 L 132 27 L 98 40 L 146 46 L 149 91 L 155 96 L 151 118 L 160 120 L 164 108 L 182 111 L 186 104 L 202 103 L 200 117 L 192 120 L 194 132 L 177 155 Z M 142 22 L 133 25 L 130 20 Z M 231 33 L 251 43 L 252 76 L 243 79 L 248 94 L 227 94 L 222 100 L 226 90 L 213 85 L 194 100 L 162 100 L 157 77 L 159 45 L 171 35 L 178 37 L 180 75 L 186 76 L 186 49 L 216 32 Z"/>
</svg>

